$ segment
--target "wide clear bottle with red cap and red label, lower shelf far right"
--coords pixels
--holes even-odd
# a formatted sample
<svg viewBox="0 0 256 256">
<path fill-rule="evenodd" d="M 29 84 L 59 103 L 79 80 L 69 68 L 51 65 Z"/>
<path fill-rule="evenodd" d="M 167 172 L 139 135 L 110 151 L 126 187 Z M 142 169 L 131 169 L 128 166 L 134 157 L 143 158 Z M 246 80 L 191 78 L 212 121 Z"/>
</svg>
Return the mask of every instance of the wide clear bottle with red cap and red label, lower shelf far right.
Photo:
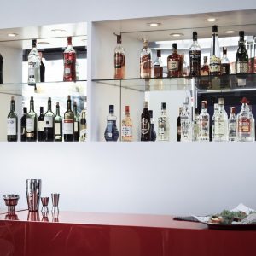
<svg viewBox="0 0 256 256">
<path fill-rule="evenodd" d="M 253 114 L 246 97 L 241 100 L 241 111 L 236 116 L 236 140 L 238 142 L 253 142 Z"/>
</svg>

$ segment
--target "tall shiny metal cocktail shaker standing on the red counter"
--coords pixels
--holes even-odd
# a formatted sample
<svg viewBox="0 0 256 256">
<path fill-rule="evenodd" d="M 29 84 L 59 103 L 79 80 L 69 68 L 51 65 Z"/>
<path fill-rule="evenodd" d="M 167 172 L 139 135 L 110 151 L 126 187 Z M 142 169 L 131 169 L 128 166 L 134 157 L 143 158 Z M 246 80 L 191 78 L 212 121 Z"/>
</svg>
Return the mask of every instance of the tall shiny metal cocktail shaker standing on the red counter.
<svg viewBox="0 0 256 256">
<path fill-rule="evenodd" d="M 29 212 L 37 212 L 41 195 L 41 179 L 26 180 L 26 200 Z"/>
</svg>

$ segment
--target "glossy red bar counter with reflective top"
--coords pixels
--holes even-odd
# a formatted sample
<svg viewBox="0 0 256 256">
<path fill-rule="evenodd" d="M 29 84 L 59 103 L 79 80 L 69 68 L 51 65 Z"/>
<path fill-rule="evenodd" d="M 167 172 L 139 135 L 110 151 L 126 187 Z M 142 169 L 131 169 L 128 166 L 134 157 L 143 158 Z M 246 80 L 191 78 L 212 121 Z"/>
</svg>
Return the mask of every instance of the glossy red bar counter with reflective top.
<svg viewBox="0 0 256 256">
<path fill-rule="evenodd" d="M 209 230 L 172 216 L 0 213 L 0 256 L 241 256 L 256 255 L 255 241 L 254 230 Z"/>
</svg>

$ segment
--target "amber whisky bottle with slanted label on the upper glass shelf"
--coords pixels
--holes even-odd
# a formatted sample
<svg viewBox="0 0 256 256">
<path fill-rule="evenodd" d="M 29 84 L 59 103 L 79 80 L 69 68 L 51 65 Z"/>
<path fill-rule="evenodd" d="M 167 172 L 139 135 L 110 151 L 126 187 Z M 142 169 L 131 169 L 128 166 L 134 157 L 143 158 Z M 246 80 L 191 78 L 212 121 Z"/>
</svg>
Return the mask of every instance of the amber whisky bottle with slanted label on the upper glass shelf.
<svg viewBox="0 0 256 256">
<path fill-rule="evenodd" d="M 151 78 L 152 52 L 148 48 L 148 39 L 143 39 L 143 49 L 140 58 L 140 74 L 142 79 Z"/>
</svg>

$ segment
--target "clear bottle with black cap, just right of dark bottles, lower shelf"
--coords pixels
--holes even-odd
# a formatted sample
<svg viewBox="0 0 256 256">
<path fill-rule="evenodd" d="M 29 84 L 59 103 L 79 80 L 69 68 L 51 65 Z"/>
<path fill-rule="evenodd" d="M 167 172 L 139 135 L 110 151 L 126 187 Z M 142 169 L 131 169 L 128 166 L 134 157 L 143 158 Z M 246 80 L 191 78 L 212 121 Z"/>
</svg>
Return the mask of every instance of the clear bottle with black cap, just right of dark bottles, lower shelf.
<svg viewBox="0 0 256 256">
<path fill-rule="evenodd" d="M 169 118 L 166 113 L 166 102 L 161 103 L 161 115 L 158 119 L 158 140 L 159 141 L 169 141 Z"/>
</svg>

